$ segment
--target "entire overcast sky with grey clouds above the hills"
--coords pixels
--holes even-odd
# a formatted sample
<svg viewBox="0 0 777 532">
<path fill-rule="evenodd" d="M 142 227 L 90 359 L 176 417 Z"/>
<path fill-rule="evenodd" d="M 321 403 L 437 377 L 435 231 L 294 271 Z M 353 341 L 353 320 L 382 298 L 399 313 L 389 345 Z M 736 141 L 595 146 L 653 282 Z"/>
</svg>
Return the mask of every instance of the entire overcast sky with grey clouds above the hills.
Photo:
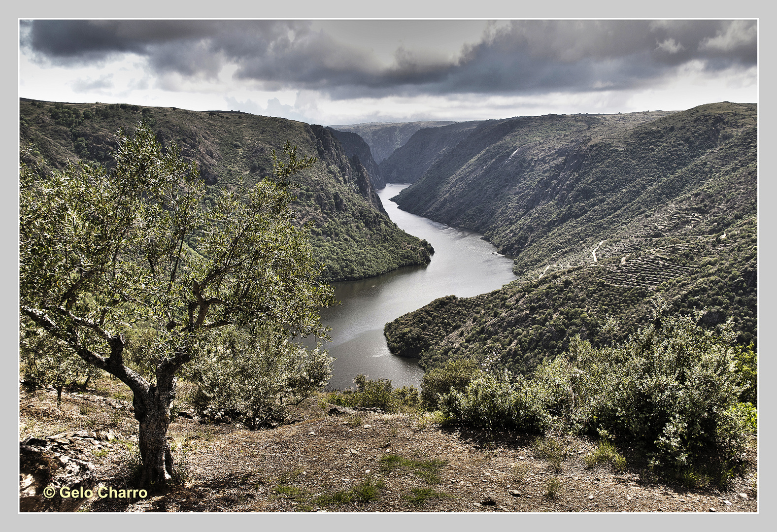
<svg viewBox="0 0 777 532">
<path fill-rule="evenodd" d="M 308 123 L 758 102 L 754 20 L 32 20 L 19 96 Z"/>
</svg>

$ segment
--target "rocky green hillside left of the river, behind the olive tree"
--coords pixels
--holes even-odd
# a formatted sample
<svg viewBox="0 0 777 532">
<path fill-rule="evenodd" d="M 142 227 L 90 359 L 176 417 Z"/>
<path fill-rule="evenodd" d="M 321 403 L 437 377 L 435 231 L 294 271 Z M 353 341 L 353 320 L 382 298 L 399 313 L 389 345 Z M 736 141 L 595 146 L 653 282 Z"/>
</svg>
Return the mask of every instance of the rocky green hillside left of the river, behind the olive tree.
<svg viewBox="0 0 777 532">
<path fill-rule="evenodd" d="M 44 167 L 82 160 L 110 165 L 115 134 L 145 120 L 163 144 L 176 142 L 197 161 L 209 196 L 242 180 L 272 172 L 272 153 L 285 141 L 318 162 L 294 183 L 300 223 L 312 222 L 316 259 L 324 280 L 376 276 L 401 266 L 423 265 L 430 246 L 399 229 L 383 210 L 368 169 L 349 158 L 332 130 L 307 123 L 239 112 L 194 112 L 174 107 L 19 101 L 23 147 Z"/>
</svg>

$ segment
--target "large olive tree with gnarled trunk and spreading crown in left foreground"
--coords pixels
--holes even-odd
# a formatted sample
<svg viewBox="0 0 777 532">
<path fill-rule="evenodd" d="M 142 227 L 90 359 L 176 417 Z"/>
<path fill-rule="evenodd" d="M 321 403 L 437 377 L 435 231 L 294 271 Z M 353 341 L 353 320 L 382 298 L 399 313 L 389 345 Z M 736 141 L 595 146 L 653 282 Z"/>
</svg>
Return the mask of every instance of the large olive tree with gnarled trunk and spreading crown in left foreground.
<svg viewBox="0 0 777 532">
<path fill-rule="evenodd" d="M 274 156 L 274 179 L 225 190 L 204 208 L 197 165 L 163 150 L 148 127 L 119 132 L 115 165 L 69 164 L 19 175 L 19 304 L 23 324 L 131 388 L 143 461 L 141 483 L 166 485 L 166 433 L 176 378 L 217 329 L 267 325 L 286 338 L 326 338 L 307 233 L 294 224 L 289 185 L 315 162 Z M 128 338 L 153 341 L 144 377 L 127 361 Z M 137 368 L 137 366 L 135 366 Z"/>
</svg>

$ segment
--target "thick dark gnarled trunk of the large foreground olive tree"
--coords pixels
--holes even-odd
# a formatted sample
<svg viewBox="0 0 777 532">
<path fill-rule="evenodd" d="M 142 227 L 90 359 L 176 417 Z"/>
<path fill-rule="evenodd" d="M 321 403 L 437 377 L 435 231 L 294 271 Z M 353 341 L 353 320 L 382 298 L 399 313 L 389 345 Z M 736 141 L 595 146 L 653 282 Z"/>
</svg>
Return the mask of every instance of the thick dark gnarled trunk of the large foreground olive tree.
<svg viewBox="0 0 777 532">
<path fill-rule="evenodd" d="M 140 422 L 138 447 L 143 461 L 140 484 L 149 488 L 164 488 L 175 473 L 170 444 L 167 442 L 169 407 L 172 399 L 160 396 L 152 386 L 145 397 L 134 394 L 135 419 Z"/>
</svg>

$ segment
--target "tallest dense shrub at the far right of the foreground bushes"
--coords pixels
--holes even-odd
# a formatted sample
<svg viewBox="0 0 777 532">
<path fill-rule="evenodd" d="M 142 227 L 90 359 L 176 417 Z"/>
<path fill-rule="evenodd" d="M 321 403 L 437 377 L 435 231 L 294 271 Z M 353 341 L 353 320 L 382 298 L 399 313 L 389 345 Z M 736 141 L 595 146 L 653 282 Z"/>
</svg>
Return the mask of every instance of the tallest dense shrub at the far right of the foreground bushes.
<svg viewBox="0 0 777 532">
<path fill-rule="evenodd" d="M 667 318 L 661 310 L 622 348 L 628 361 L 617 418 L 604 428 L 642 440 L 653 465 L 681 469 L 712 455 L 733 459 L 746 440 L 743 426 L 726 414 L 741 391 L 727 345 L 735 335 L 713 336 L 694 318 Z"/>
</svg>

